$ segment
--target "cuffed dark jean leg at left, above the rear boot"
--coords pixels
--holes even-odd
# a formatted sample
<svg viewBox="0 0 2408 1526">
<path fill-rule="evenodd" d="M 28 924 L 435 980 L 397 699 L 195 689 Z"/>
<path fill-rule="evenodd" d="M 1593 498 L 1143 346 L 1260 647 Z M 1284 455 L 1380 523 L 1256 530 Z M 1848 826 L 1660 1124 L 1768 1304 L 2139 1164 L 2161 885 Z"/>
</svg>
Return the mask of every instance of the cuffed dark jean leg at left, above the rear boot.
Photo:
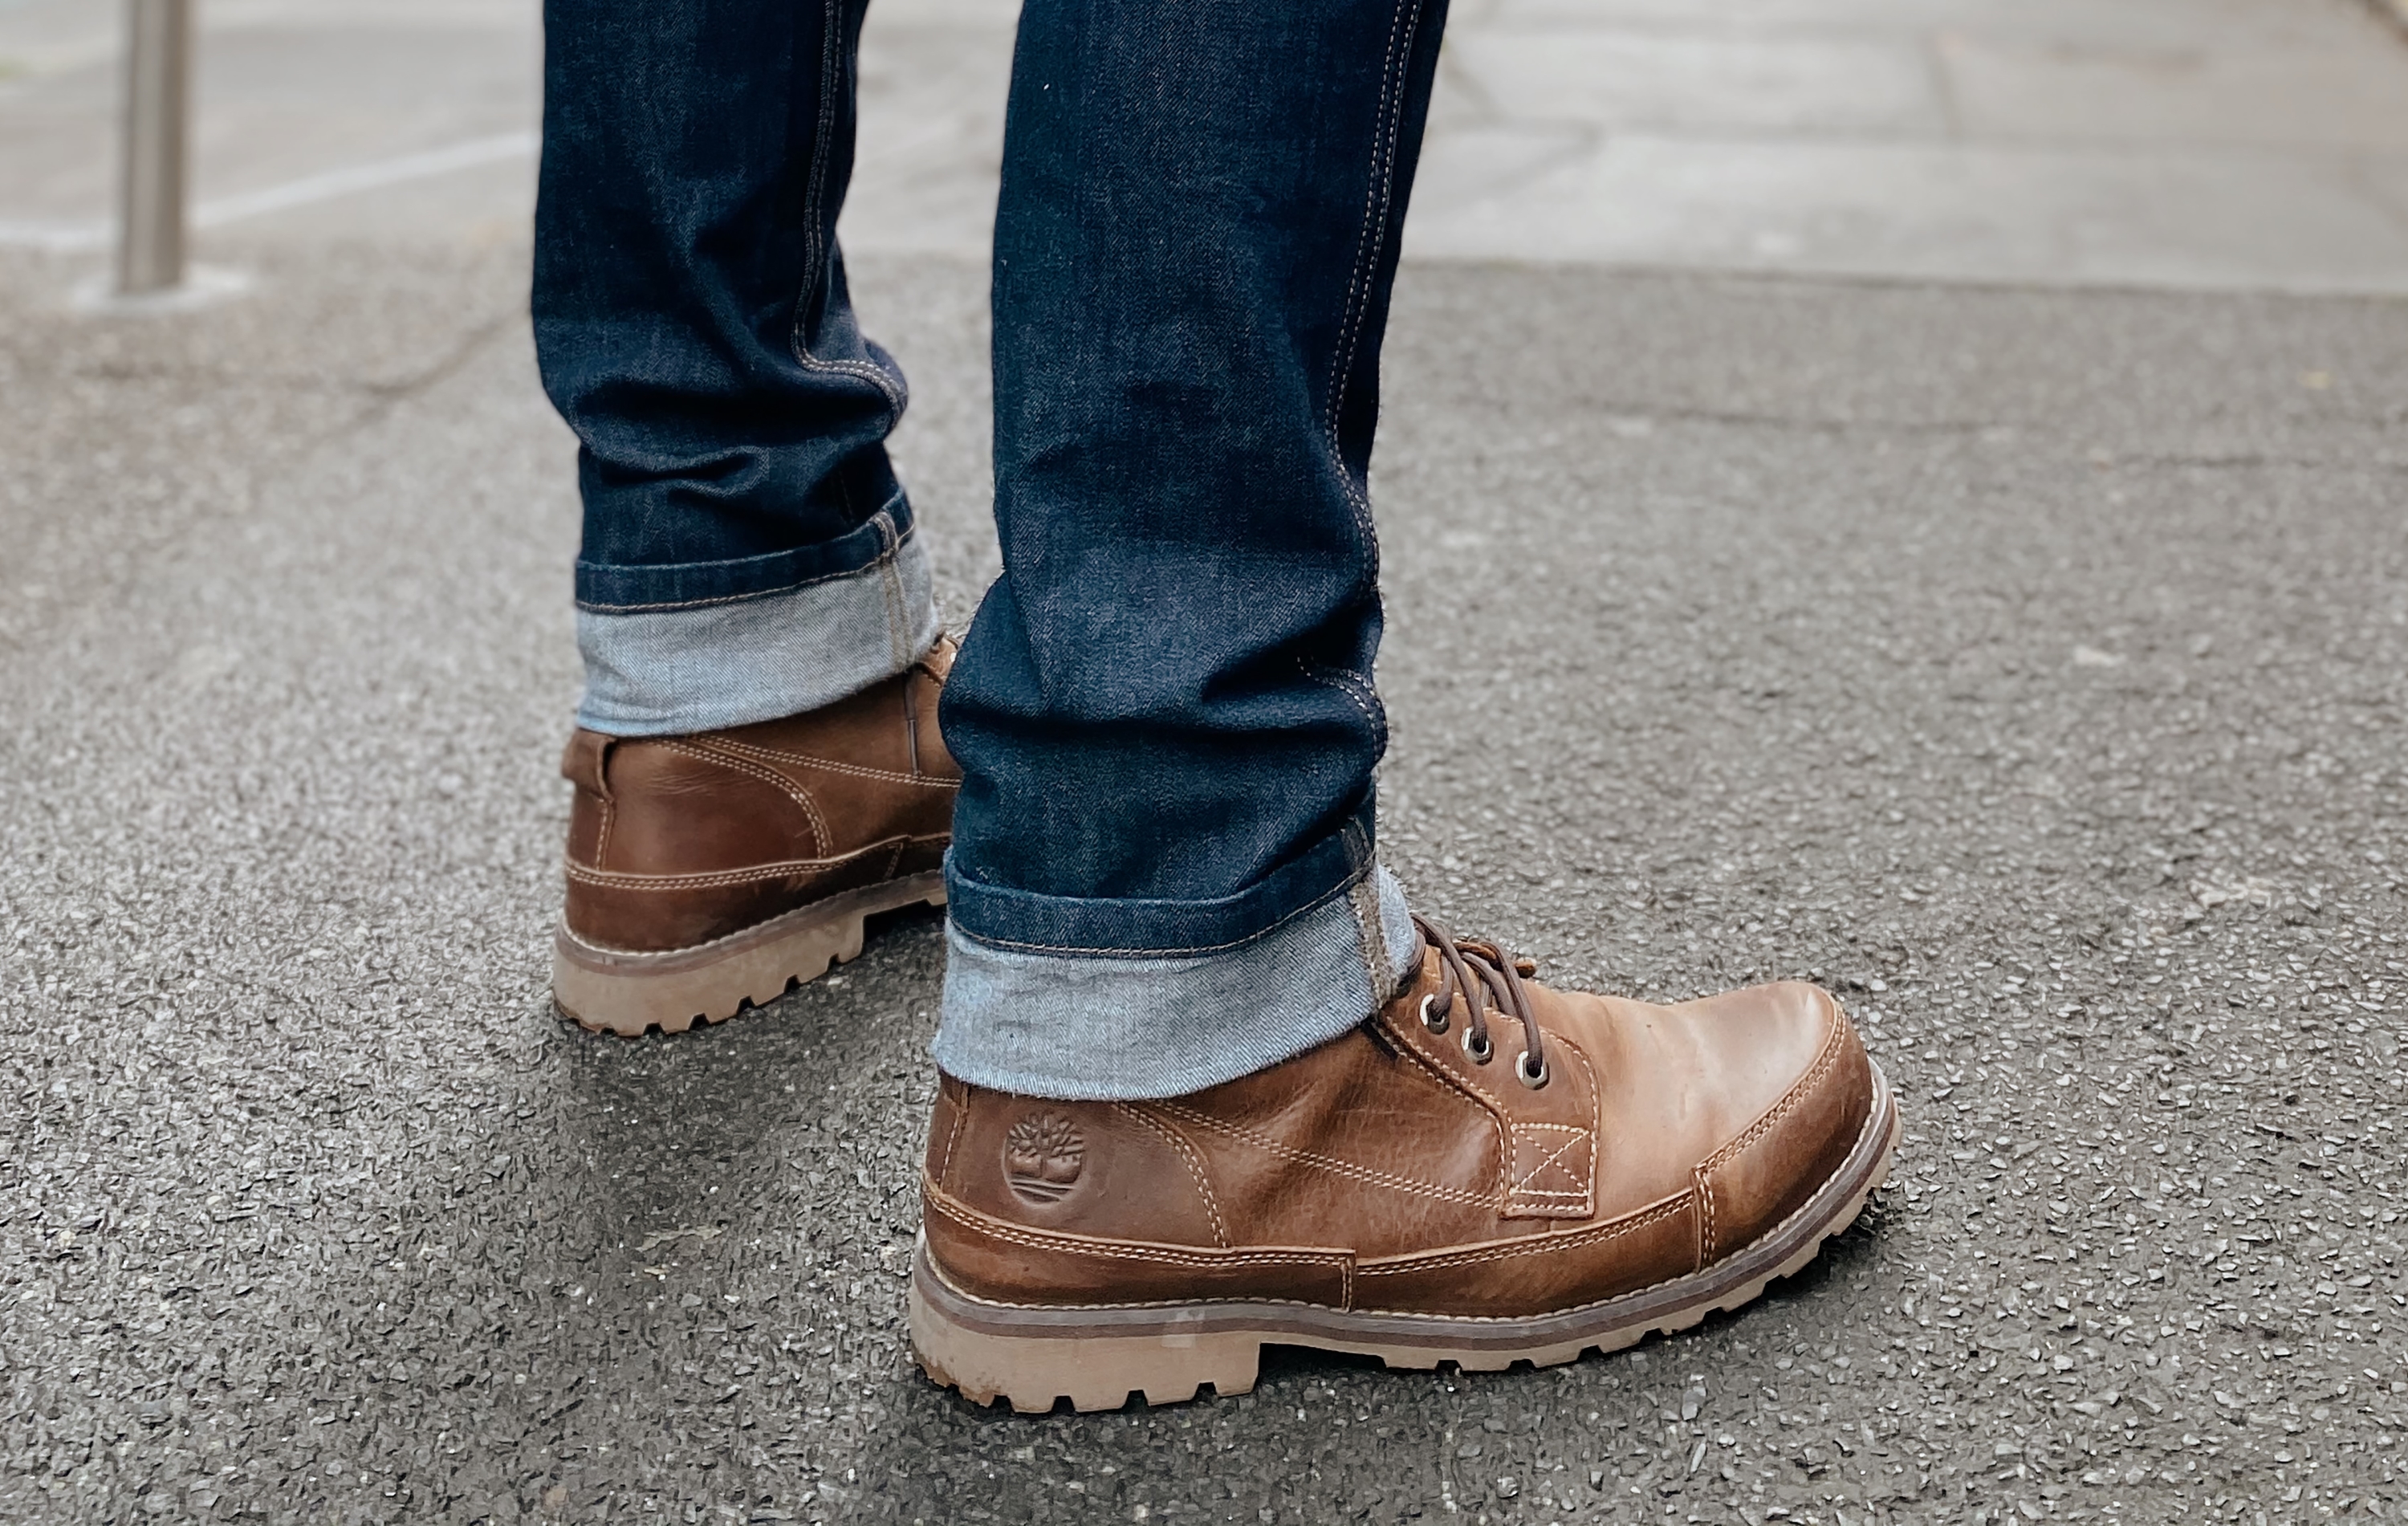
<svg viewBox="0 0 2408 1526">
<path fill-rule="evenodd" d="M 937 638 L 903 373 L 836 214 L 867 0 L 547 0 L 535 344 L 578 436 L 580 724 L 824 705 Z"/>
</svg>

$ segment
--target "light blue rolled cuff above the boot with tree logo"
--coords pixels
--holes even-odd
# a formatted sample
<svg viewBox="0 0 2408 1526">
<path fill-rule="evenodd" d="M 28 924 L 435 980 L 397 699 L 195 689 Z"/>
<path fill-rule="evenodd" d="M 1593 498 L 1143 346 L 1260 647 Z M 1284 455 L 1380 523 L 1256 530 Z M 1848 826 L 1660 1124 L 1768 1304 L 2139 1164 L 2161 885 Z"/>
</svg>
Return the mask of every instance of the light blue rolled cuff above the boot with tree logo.
<svg viewBox="0 0 2408 1526">
<path fill-rule="evenodd" d="M 1021 953 L 949 922 L 937 1066 L 1031 1098 L 1180 1098 L 1339 1037 L 1397 994 L 1418 946 L 1377 864 L 1199 956 Z"/>
</svg>

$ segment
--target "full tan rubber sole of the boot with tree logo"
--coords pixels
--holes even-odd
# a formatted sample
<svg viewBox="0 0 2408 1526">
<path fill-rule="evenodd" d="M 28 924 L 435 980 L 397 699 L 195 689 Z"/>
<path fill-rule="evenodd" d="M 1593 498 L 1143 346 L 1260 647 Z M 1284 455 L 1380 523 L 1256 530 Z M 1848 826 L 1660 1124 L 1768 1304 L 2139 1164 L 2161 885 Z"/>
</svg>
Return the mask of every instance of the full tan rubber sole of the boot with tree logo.
<svg viewBox="0 0 2408 1526">
<path fill-rule="evenodd" d="M 1389 1367 L 1500 1372 L 1553 1367 L 1683 1331 L 1714 1309 L 1736 1309 L 1799 1271 L 1864 1211 L 1898 1151 L 1898 1100 L 1873 1071 L 1873 1110 L 1837 1172 L 1796 1213 L 1739 1254 L 1702 1271 L 1531 1319 L 1382 1314 L 1300 1302 L 1199 1302 L 1151 1307 L 1028 1307 L 970 1297 L 944 1280 L 922 1242 L 913 1261 L 910 1338 L 920 1370 L 970 1403 L 1007 1398 L 1040 1415 L 1069 1398 L 1076 1410 L 1115 1410 L 1132 1394 L 1180 1403 L 1255 1386 L 1264 1345 L 1310 1345 L 1380 1358 Z"/>
</svg>

